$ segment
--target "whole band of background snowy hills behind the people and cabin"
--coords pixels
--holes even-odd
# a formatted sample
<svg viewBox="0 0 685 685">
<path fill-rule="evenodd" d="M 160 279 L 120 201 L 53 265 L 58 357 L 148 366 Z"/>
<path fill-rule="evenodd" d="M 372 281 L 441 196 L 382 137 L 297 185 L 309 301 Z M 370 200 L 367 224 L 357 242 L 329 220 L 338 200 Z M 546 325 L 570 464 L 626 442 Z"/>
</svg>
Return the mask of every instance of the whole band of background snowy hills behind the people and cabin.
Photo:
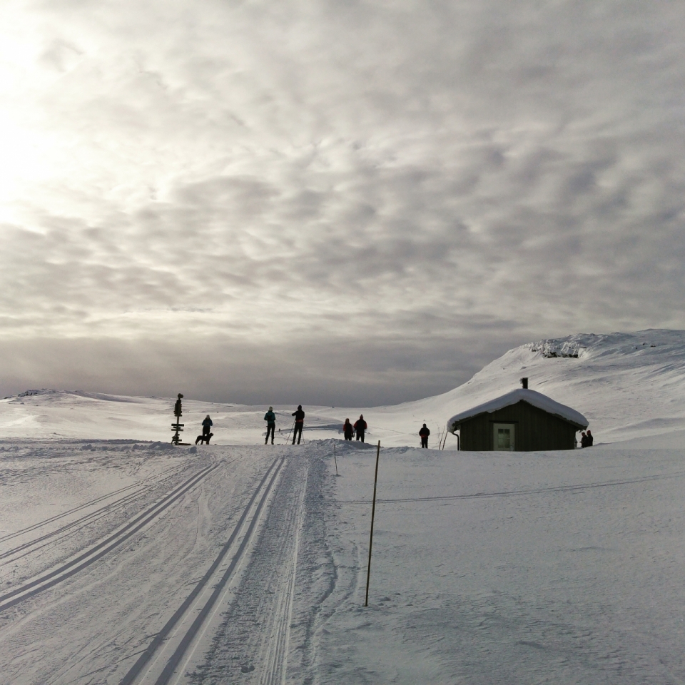
<svg viewBox="0 0 685 685">
<path fill-rule="evenodd" d="M 360 415 L 369 425 L 367 442 L 387 447 L 417 445 L 427 422 L 431 445 L 447 419 L 519 387 L 585 415 L 597 442 L 642 439 L 644 445 L 677 447 L 685 436 L 685 331 L 581 333 L 540 340 L 509 350 L 464 385 L 443 395 L 388 407 L 305 407 L 305 439 L 341 437 L 342 422 Z M 28 390 L 0 400 L 0 437 L 171 440 L 173 400 L 118 397 L 87 392 Z M 263 440 L 266 406 L 184 400 L 186 442 L 194 442 L 206 414 L 214 420 L 215 442 L 250 445 Z M 285 442 L 292 407 L 275 407 L 277 442 Z M 655 436 L 659 435 L 658 439 Z M 655 441 L 656 440 L 656 441 Z M 664 442 L 666 441 L 666 442 Z M 446 449 L 456 440 L 447 437 Z"/>
</svg>

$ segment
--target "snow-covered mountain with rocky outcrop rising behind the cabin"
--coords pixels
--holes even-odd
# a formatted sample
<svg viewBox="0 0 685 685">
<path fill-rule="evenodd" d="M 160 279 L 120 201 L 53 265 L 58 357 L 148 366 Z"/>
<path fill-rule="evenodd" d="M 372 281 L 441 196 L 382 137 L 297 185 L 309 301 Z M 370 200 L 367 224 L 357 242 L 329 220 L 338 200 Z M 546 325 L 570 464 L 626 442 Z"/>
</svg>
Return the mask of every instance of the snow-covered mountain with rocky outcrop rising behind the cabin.
<svg viewBox="0 0 685 685">
<path fill-rule="evenodd" d="M 685 430 L 683 330 L 579 333 L 529 342 L 455 390 L 412 403 L 412 413 L 447 420 L 520 387 L 522 377 L 528 377 L 532 390 L 586 416 L 596 445 L 643 438 L 645 446 L 677 447 L 685 439 L 677 435 Z M 662 437 L 654 442 L 656 435 Z"/>
</svg>

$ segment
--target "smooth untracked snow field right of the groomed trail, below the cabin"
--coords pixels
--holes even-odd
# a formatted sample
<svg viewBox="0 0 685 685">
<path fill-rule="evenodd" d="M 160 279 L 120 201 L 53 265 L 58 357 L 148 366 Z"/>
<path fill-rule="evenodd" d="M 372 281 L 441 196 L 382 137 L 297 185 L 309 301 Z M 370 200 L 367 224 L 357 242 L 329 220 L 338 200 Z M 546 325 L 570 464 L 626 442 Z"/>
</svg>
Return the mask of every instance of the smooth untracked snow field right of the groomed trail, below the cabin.
<svg viewBox="0 0 685 685">
<path fill-rule="evenodd" d="M 338 454 L 317 682 L 685 681 L 682 450 Z"/>
</svg>

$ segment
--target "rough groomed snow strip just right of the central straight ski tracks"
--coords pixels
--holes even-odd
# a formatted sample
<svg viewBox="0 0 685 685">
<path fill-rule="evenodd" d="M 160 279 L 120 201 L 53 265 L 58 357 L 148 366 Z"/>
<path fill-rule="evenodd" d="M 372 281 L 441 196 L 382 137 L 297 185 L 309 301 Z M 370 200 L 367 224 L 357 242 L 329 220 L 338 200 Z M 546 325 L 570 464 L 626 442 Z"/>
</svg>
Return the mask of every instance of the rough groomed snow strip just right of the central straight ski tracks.
<svg viewBox="0 0 685 685">
<path fill-rule="evenodd" d="M 275 685 L 293 681 L 291 671 L 299 672 L 301 653 L 313 647 L 310 639 L 300 639 L 300 627 L 315 612 L 316 601 L 306 596 L 306 590 L 303 595 L 300 586 L 304 581 L 309 587 L 307 578 L 316 574 L 311 559 L 306 561 L 311 534 L 308 514 L 311 504 L 320 501 L 325 475 L 323 461 L 314 455 L 288 461 L 234 599 L 225 607 L 203 659 L 186 673 L 185 682 Z M 291 660 L 295 662 L 292 669 Z"/>
</svg>

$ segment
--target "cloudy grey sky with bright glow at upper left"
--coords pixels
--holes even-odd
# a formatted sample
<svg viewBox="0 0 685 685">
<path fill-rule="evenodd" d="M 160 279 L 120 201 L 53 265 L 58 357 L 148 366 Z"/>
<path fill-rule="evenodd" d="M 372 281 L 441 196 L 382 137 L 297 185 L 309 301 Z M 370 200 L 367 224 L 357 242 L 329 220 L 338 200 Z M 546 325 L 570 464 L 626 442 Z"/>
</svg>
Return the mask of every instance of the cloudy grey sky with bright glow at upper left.
<svg viewBox="0 0 685 685">
<path fill-rule="evenodd" d="M 0 393 L 369 406 L 685 328 L 685 5 L 4 0 Z"/>
</svg>

